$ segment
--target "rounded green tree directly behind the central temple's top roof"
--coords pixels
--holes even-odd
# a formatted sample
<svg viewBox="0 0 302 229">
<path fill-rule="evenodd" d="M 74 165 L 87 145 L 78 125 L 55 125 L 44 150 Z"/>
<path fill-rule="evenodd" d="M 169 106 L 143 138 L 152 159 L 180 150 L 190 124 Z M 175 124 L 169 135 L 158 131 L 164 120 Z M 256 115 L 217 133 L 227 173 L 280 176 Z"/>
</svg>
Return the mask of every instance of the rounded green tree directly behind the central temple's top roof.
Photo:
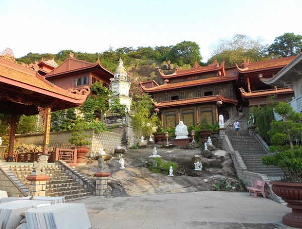
<svg viewBox="0 0 302 229">
<path fill-rule="evenodd" d="M 200 63 L 202 57 L 200 56 L 199 45 L 192 41 L 178 43 L 171 48 L 166 60 L 170 60 L 172 63 L 177 63 L 180 66 L 184 64 L 193 66 L 195 61 Z"/>
</svg>

